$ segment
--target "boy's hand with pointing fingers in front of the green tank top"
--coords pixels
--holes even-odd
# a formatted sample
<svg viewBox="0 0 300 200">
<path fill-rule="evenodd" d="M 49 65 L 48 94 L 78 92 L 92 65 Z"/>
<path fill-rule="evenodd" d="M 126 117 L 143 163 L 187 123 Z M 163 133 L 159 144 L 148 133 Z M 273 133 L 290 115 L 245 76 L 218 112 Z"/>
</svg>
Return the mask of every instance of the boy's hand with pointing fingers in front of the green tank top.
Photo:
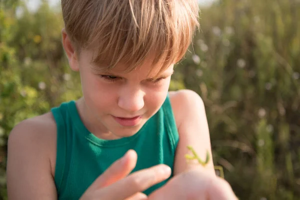
<svg viewBox="0 0 300 200">
<path fill-rule="evenodd" d="M 112 163 L 104 173 L 97 177 L 80 200 L 147 199 L 141 191 L 168 178 L 171 169 L 164 164 L 159 164 L 128 175 L 135 167 L 136 160 L 136 152 L 128 150 L 123 157 Z"/>
</svg>

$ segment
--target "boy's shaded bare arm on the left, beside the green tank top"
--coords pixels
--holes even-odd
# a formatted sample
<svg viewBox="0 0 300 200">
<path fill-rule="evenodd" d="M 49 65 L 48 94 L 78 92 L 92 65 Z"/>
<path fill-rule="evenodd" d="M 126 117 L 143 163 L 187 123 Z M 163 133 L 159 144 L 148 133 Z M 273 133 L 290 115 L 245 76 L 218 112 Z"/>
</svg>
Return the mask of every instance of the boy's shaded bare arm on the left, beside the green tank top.
<svg viewBox="0 0 300 200">
<path fill-rule="evenodd" d="M 49 158 L 48 133 L 53 127 L 48 124 L 38 118 L 27 119 L 9 134 L 6 170 L 9 200 L 57 199 Z"/>
</svg>

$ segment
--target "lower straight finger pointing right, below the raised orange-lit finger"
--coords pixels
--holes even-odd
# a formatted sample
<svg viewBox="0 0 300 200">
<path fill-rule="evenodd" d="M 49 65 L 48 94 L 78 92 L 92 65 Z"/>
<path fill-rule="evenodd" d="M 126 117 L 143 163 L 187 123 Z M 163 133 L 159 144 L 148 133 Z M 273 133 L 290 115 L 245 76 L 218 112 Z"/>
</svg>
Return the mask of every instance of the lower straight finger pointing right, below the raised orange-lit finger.
<svg viewBox="0 0 300 200">
<path fill-rule="evenodd" d="M 104 199 L 124 199 L 136 192 L 144 191 L 148 187 L 161 182 L 171 174 L 169 166 L 159 164 L 147 169 L 136 171 L 129 176 L 99 190 L 99 196 Z M 118 192 L 114 192 L 114 191 Z M 105 198 L 106 197 L 106 198 Z"/>
</svg>

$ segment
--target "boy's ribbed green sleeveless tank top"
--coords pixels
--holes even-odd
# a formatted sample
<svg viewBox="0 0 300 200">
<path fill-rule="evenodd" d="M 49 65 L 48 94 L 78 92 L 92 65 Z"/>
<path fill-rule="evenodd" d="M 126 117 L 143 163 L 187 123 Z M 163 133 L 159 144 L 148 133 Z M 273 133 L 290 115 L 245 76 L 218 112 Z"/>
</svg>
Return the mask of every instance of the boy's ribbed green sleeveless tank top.
<svg viewBox="0 0 300 200">
<path fill-rule="evenodd" d="M 79 199 L 88 186 L 128 149 L 137 153 L 132 172 L 160 163 L 173 170 L 179 137 L 168 95 L 160 109 L 136 134 L 115 140 L 103 140 L 89 132 L 80 119 L 75 101 L 63 102 L 51 111 L 57 125 L 54 181 L 58 199 Z M 143 192 L 148 195 L 167 180 Z"/>
</svg>

